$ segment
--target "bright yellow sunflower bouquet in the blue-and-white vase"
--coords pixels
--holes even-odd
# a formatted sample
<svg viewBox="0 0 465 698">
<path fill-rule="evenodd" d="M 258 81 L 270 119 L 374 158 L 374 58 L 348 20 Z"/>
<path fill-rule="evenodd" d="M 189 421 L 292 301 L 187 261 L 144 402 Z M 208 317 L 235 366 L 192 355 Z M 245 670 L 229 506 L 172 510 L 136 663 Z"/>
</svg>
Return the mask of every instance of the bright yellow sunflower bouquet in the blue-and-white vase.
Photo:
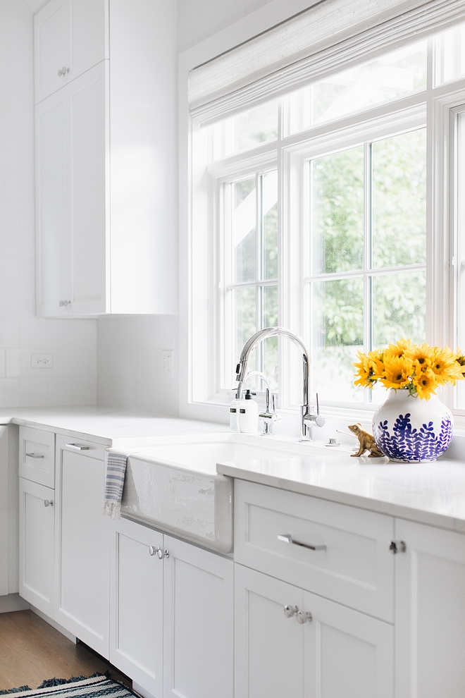
<svg viewBox="0 0 465 698">
<path fill-rule="evenodd" d="M 380 383 L 385 388 L 405 388 L 412 396 L 429 400 L 436 388 L 455 385 L 465 379 L 465 356 L 449 347 L 440 349 L 429 344 L 411 344 L 401 339 L 385 349 L 358 353 L 356 386 L 373 388 Z"/>
</svg>

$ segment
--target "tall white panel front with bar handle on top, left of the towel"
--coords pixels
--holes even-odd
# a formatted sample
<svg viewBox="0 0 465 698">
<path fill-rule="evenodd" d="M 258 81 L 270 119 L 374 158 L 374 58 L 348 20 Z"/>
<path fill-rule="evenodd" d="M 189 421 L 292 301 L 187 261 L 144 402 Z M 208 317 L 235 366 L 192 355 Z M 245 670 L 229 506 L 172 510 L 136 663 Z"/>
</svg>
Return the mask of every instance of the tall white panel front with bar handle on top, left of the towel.
<svg viewBox="0 0 465 698">
<path fill-rule="evenodd" d="M 110 519 L 103 515 L 104 448 L 56 436 L 54 619 L 108 659 Z"/>
</svg>

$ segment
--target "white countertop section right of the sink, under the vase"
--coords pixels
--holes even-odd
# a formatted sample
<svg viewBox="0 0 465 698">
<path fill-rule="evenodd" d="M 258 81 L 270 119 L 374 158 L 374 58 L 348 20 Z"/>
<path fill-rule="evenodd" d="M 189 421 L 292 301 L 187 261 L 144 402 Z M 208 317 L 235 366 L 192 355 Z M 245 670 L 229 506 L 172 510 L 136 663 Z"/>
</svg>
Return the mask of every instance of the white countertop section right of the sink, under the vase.
<svg viewBox="0 0 465 698">
<path fill-rule="evenodd" d="M 322 449 L 323 451 L 323 449 Z M 390 463 L 330 453 L 218 463 L 218 472 L 465 533 L 465 463 Z"/>
</svg>

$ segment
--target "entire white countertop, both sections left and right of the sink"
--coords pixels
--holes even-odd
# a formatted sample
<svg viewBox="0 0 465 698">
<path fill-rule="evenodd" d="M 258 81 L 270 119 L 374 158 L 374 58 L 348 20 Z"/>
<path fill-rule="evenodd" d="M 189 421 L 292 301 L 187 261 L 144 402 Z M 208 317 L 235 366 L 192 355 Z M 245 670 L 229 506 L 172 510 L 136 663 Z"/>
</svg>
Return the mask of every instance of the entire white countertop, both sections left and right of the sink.
<svg viewBox="0 0 465 698">
<path fill-rule="evenodd" d="M 132 451 L 160 437 L 221 434 L 223 424 L 157 417 L 109 408 L 3 408 L 0 424 L 19 424 Z M 297 441 L 276 436 L 278 441 Z M 404 465 L 387 458 L 351 458 L 346 447 L 314 442 L 318 455 L 218 463 L 240 479 L 316 496 L 465 533 L 465 463 Z"/>
</svg>

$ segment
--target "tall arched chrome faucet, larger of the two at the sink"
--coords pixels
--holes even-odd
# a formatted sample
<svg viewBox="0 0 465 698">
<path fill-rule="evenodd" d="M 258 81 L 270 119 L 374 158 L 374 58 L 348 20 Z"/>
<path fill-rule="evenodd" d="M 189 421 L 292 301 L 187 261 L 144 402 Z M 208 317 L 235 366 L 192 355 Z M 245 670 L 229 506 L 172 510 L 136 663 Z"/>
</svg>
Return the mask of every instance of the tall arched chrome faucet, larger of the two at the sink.
<svg viewBox="0 0 465 698">
<path fill-rule="evenodd" d="M 236 380 L 238 381 L 236 397 L 240 398 L 242 395 L 242 387 L 244 386 L 244 381 L 247 378 L 247 369 L 249 367 L 249 359 L 252 351 L 257 344 L 263 342 L 264 339 L 268 337 L 283 336 L 289 337 L 294 344 L 297 344 L 302 352 L 302 368 L 303 368 L 303 398 L 302 398 L 302 408 L 301 408 L 301 420 L 300 420 L 300 440 L 301 441 L 311 441 L 311 427 L 323 427 L 325 424 L 325 418 L 320 415 L 318 396 L 316 396 L 316 414 L 311 412 L 309 405 L 309 372 L 310 372 L 310 355 L 309 350 L 306 348 L 304 341 L 299 337 L 298 334 L 285 329 L 284 327 L 266 327 L 263 330 L 259 330 L 244 344 L 242 349 L 239 363 L 236 367 Z"/>
</svg>

